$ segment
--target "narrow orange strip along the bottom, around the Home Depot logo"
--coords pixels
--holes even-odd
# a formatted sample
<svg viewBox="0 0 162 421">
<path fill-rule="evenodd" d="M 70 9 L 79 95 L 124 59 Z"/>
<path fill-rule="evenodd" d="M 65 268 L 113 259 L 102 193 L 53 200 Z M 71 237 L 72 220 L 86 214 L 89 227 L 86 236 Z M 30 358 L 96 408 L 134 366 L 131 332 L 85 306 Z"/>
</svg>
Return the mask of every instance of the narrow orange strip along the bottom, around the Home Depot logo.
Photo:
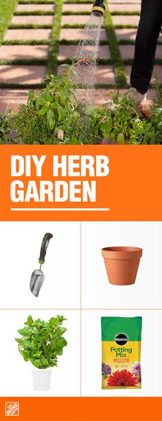
<svg viewBox="0 0 162 421">
<path fill-rule="evenodd" d="M 162 420 L 162 398 L 0 398 L 2 421 L 6 401 L 19 401 L 20 421 Z"/>
</svg>

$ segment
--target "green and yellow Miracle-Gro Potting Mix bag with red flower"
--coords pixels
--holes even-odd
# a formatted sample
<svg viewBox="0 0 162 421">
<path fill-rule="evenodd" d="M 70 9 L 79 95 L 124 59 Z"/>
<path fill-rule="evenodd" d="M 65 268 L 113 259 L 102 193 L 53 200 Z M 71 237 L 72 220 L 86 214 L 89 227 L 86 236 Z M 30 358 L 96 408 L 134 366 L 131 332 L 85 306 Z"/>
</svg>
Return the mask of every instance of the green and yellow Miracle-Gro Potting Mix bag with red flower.
<svg viewBox="0 0 162 421">
<path fill-rule="evenodd" d="M 141 389 L 141 317 L 102 317 L 102 389 Z"/>
</svg>

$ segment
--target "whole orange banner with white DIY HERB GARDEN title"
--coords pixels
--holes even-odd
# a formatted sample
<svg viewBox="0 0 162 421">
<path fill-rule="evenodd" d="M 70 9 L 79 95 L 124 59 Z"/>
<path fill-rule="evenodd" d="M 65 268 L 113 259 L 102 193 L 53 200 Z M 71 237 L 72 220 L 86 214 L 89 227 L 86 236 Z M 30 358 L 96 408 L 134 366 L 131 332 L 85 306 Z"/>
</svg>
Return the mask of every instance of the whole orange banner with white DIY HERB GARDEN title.
<svg viewBox="0 0 162 421">
<path fill-rule="evenodd" d="M 161 162 L 161 146 L 1 146 L 1 220 L 161 220 Z"/>
</svg>

